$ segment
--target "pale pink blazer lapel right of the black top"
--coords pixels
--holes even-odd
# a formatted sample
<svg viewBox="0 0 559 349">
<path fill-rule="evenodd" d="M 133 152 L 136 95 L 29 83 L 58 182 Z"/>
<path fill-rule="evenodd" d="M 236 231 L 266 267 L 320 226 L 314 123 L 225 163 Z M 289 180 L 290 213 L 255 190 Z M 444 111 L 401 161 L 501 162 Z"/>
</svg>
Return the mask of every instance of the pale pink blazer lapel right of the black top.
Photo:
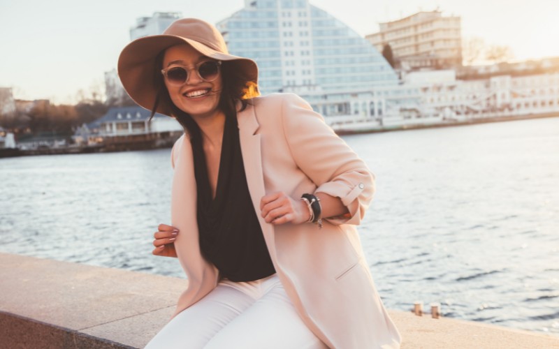
<svg viewBox="0 0 559 349">
<path fill-rule="evenodd" d="M 264 186 L 264 177 L 262 169 L 262 153 L 260 134 L 256 133 L 259 128 L 256 119 L 256 110 L 254 105 L 247 105 L 245 110 L 237 113 L 239 125 L 240 149 L 242 152 L 242 161 L 245 165 L 245 174 L 247 176 L 247 184 L 249 187 L 252 205 L 258 216 L 260 226 L 273 261 L 275 258 L 274 228 L 273 225 L 266 223 L 260 215 L 260 200 L 266 195 Z"/>
</svg>

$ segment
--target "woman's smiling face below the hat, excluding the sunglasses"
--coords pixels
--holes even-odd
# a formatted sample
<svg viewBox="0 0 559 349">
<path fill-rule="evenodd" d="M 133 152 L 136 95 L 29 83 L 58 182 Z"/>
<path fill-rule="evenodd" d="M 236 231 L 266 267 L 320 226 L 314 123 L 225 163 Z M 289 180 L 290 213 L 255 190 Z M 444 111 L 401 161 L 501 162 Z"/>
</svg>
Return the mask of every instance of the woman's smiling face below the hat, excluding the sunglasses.
<svg viewBox="0 0 559 349">
<path fill-rule="evenodd" d="M 188 77 L 183 84 L 170 83 L 167 78 L 164 81 L 171 101 L 198 123 L 201 119 L 222 114 L 218 107 L 222 91 L 221 73 L 215 80 L 208 82 L 196 72 L 201 63 L 210 60 L 187 44 L 169 47 L 163 59 L 164 69 L 173 66 L 187 67 Z"/>
</svg>

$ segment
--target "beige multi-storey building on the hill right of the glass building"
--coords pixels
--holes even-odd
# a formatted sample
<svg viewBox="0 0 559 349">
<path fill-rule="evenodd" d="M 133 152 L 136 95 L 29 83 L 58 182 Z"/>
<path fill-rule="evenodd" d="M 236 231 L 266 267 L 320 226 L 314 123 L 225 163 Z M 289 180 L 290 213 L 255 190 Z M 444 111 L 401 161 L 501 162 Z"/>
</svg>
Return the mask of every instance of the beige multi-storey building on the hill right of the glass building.
<svg viewBox="0 0 559 349">
<path fill-rule="evenodd" d="M 383 22 L 379 27 L 378 33 L 365 38 L 380 52 L 389 44 L 402 70 L 462 65 L 460 17 L 442 16 L 435 10 Z"/>
</svg>

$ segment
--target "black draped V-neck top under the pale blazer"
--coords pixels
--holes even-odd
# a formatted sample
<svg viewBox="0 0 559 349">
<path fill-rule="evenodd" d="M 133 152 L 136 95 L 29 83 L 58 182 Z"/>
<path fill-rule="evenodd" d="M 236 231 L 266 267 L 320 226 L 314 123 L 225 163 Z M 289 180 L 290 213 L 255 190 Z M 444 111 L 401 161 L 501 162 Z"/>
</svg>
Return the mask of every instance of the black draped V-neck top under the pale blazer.
<svg viewBox="0 0 559 349">
<path fill-rule="evenodd" d="M 236 282 L 254 281 L 274 274 L 275 269 L 250 198 L 237 117 L 225 120 L 215 198 L 201 137 L 191 138 L 200 248 L 221 276 Z"/>
</svg>

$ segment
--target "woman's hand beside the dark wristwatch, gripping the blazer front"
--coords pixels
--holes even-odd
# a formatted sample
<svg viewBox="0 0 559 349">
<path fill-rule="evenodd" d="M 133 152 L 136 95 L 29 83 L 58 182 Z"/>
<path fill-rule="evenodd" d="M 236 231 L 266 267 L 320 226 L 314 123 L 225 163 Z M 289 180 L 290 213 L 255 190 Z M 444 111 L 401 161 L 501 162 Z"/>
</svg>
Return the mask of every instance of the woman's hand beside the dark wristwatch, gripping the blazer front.
<svg viewBox="0 0 559 349">
<path fill-rule="evenodd" d="M 264 195 L 260 200 L 260 210 L 266 223 L 272 224 L 299 224 L 310 218 L 309 209 L 303 200 L 295 200 L 282 191 Z"/>
</svg>

